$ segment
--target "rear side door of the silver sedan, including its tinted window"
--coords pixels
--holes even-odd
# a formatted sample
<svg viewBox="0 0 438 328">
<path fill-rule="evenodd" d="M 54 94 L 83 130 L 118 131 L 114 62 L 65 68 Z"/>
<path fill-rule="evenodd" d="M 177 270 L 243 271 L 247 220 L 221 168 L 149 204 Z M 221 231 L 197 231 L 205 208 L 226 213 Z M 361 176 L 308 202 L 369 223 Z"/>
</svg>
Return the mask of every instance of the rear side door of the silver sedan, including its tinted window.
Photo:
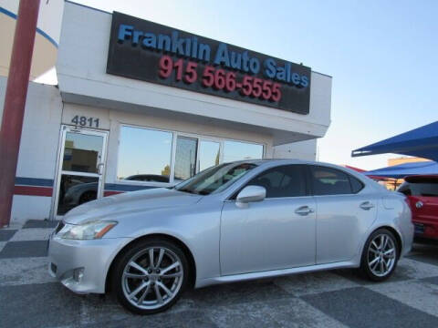
<svg viewBox="0 0 438 328">
<path fill-rule="evenodd" d="M 317 203 L 317 263 L 349 261 L 357 253 L 363 234 L 377 217 L 376 196 L 344 171 L 310 166 Z"/>
</svg>

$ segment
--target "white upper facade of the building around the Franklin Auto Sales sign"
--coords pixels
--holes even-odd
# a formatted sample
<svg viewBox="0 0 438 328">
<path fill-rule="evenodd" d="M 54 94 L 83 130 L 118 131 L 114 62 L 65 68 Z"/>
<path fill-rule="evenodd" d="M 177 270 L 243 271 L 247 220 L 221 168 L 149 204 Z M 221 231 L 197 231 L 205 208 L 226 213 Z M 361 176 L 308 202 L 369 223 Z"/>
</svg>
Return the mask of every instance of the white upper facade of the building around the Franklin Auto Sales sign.
<svg viewBox="0 0 438 328">
<path fill-rule="evenodd" d="M 328 129 L 331 77 L 312 72 L 308 115 L 117 77 L 106 73 L 110 26 L 109 13 L 66 3 L 57 57 L 66 102 L 106 107 L 117 102 L 236 122 L 255 133 L 268 131 L 274 145 L 323 137 Z"/>
</svg>

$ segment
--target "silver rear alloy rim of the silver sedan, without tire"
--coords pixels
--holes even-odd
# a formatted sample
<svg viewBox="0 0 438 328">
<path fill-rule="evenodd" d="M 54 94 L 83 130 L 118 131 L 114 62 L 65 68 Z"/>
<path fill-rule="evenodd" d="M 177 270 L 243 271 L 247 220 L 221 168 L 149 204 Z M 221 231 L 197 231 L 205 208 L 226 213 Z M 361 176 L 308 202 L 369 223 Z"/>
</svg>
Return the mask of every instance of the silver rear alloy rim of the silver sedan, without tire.
<svg viewBox="0 0 438 328">
<path fill-rule="evenodd" d="M 388 234 L 378 234 L 368 248 L 367 261 L 370 271 L 378 277 L 386 276 L 395 264 L 395 256 L 395 244 L 391 237 Z"/>
</svg>

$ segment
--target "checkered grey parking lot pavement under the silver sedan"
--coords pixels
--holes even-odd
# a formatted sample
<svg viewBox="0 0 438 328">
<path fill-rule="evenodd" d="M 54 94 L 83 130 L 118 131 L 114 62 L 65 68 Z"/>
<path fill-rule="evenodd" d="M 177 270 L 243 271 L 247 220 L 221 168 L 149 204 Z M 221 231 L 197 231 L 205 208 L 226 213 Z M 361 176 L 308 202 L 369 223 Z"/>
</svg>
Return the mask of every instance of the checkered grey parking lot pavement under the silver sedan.
<svg viewBox="0 0 438 328">
<path fill-rule="evenodd" d="M 0 230 L 1 327 L 438 327 L 437 245 L 414 244 L 387 282 L 337 270 L 233 283 L 185 292 L 170 311 L 139 316 L 48 275 L 55 225 Z"/>
</svg>

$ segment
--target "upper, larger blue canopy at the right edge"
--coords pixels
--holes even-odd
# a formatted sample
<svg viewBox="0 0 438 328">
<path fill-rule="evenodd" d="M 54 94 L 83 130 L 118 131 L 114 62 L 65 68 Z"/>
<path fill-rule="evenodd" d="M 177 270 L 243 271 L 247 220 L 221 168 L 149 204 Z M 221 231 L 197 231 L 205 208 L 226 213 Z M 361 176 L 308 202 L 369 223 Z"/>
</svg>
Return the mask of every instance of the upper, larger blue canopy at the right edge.
<svg viewBox="0 0 438 328">
<path fill-rule="evenodd" d="M 438 121 L 353 150 L 351 156 L 359 157 L 385 153 L 438 160 Z"/>
</svg>

